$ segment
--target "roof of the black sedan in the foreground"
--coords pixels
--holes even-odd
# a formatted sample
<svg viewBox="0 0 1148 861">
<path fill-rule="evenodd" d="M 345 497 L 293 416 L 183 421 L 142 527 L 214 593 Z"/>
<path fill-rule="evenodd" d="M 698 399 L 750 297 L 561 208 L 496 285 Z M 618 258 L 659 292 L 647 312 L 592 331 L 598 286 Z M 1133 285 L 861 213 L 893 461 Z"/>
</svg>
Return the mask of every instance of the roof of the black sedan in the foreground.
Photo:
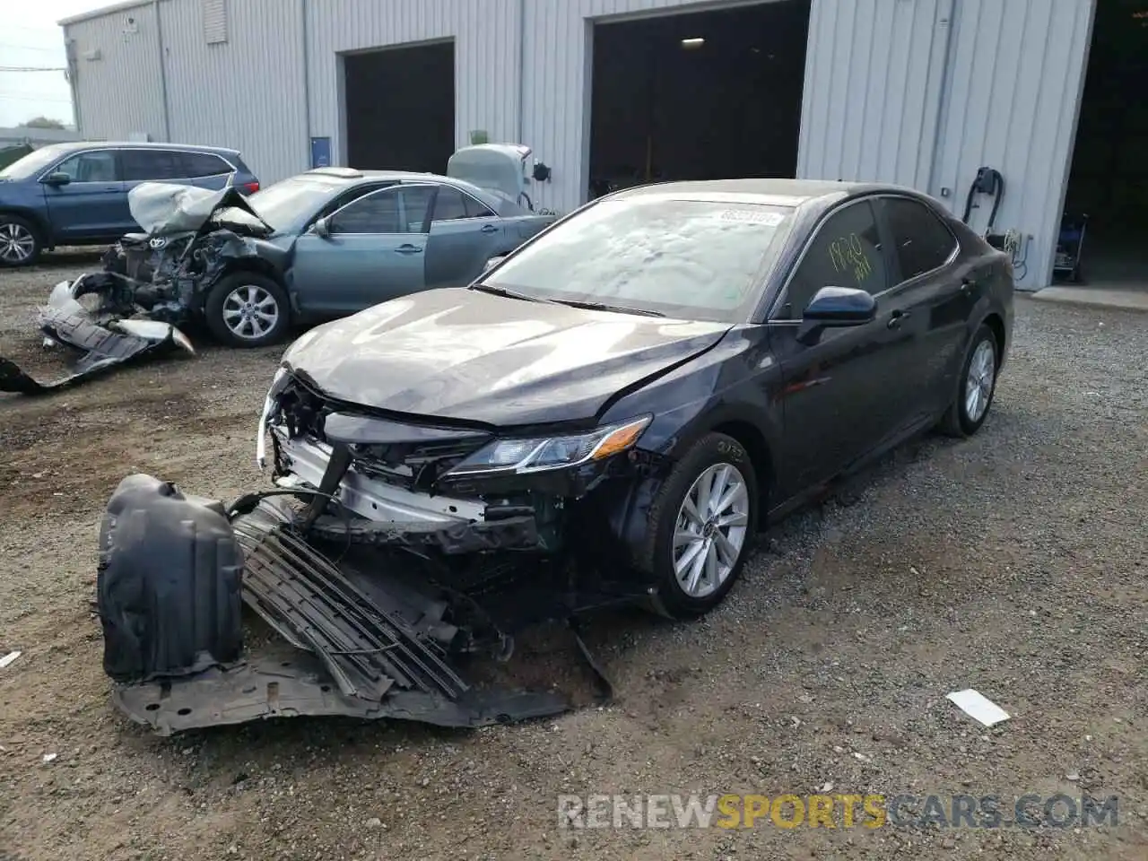
<svg viewBox="0 0 1148 861">
<path fill-rule="evenodd" d="M 881 183 L 841 183 L 825 179 L 704 179 L 654 183 L 653 185 L 626 188 L 611 196 L 616 200 L 646 195 L 696 199 L 712 195 L 715 200 L 729 202 L 799 207 L 810 201 L 830 204 L 845 197 L 874 192 L 920 194 L 910 188 Z"/>
</svg>

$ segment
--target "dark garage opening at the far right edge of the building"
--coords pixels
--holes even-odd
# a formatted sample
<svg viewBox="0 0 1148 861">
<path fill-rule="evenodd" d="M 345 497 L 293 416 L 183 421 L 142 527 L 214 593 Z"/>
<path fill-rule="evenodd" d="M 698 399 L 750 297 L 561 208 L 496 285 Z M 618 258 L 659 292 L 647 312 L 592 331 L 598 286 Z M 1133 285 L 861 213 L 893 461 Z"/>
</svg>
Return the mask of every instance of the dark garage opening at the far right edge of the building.
<svg viewBox="0 0 1148 861">
<path fill-rule="evenodd" d="M 1148 286 L 1148 3 L 1102 0 L 1095 16 L 1054 279 Z M 1075 279 L 1061 253 L 1083 215 Z"/>
</svg>

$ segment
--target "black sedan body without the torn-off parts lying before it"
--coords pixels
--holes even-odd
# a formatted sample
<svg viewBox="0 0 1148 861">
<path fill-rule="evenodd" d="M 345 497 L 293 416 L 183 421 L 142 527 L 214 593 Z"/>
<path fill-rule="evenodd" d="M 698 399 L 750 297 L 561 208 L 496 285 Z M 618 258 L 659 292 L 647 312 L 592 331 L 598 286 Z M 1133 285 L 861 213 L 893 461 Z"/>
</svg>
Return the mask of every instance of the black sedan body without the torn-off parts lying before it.
<svg viewBox="0 0 1148 861">
<path fill-rule="evenodd" d="M 510 498 L 542 520 L 561 499 L 557 532 L 608 536 L 691 613 L 767 518 L 925 428 L 975 433 L 1011 323 L 1009 258 L 929 197 L 676 183 L 582 208 L 466 292 L 315 329 L 284 367 L 391 444 L 450 442 L 420 467 L 432 506 L 481 519 Z"/>
</svg>

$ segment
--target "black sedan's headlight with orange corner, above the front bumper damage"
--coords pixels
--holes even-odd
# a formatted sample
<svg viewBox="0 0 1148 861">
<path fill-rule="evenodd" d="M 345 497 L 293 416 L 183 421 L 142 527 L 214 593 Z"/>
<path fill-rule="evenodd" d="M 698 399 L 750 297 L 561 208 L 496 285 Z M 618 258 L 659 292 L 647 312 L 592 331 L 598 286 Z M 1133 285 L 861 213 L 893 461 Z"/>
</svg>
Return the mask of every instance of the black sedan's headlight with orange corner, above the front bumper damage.
<svg viewBox="0 0 1148 861">
<path fill-rule="evenodd" d="M 572 436 L 495 440 L 450 472 L 455 475 L 529 473 L 605 460 L 607 457 L 631 449 L 652 419 L 653 416 L 642 416 Z"/>
</svg>

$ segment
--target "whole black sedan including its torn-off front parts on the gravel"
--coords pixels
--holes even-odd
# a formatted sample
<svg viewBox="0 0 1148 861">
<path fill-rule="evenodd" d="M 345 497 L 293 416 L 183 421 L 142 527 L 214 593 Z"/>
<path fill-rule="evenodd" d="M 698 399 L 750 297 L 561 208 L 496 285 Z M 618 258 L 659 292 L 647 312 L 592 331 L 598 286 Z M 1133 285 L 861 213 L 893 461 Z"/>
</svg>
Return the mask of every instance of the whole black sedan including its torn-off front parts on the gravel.
<svg viewBox="0 0 1148 861">
<path fill-rule="evenodd" d="M 234 673 L 162 696 L 146 682 L 238 660 L 238 611 L 212 596 L 242 592 L 318 657 L 323 691 L 339 684 L 292 713 L 553 711 L 475 705 L 434 661 L 591 606 L 715 606 L 770 519 L 913 434 L 978 430 L 1013 289 L 1004 254 L 905 188 L 674 183 L 583 207 L 467 288 L 315 328 L 259 421 L 280 496 L 224 507 L 131 476 L 113 497 L 101 614 L 135 620 L 104 627 L 121 706 L 166 731 L 272 713 Z M 147 541 L 117 542 L 132 514 Z M 242 552 L 220 557 L 228 535 Z M 395 552 L 427 565 L 401 574 Z M 161 574 L 157 558 L 196 565 Z"/>
</svg>

